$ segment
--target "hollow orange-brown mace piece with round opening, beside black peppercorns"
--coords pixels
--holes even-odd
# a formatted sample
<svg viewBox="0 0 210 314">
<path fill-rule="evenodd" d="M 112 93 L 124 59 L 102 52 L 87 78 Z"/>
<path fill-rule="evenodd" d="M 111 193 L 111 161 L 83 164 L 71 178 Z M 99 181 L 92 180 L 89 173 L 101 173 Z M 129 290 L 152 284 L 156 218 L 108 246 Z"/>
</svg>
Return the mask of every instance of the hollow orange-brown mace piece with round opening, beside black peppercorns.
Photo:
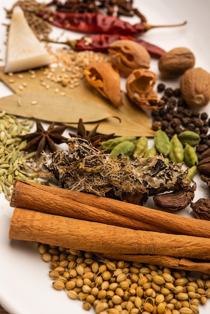
<svg viewBox="0 0 210 314">
<path fill-rule="evenodd" d="M 141 108 L 154 109 L 150 100 L 159 100 L 153 87 L 156 83 L 156 74 L 146 69 L 134 70 L 126 80 L 126 89 L 129 98 Z"/>
</svg>

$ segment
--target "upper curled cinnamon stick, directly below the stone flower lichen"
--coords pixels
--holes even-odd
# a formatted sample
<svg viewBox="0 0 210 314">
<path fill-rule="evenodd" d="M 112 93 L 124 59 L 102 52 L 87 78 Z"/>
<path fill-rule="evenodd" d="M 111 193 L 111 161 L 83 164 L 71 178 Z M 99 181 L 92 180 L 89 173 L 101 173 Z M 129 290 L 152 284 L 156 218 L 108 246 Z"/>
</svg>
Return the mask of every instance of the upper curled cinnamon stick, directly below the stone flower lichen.
<svg viewBox="0 0 210 314">
<path fill-rule="evenodd" d="M 60 201 L 58 202 L 58 200 Z M 72 201 L 74 201 L 74 203 L 72 203 Z M 87 205 L 94 209 L 86 207 Z M 124 227 L 210 238 L 210 221 L 178 216 L 114 199 L 103 198 L 82 192 L 72 192 L 26 181 L 15 182 L 11 206 L 46 211 L 73 218 L 117 224 L 116 221 L 114 221 L 114 216 L 111 216 L 112 213 L 117 214 L 118 217 L 125 217 L 126 221 L 127 219 L 131 219 L 136 226 L 135 228 L 132 227 L 131 224 L 122 224 L 121 226 Z M 84 210 L 82 211 L 83 208 Z M 90 209 L 92 211 L 90 211 Z M 102 212 L 99 211 L 99 209 L 102 210 Z M 91 215 L 93 215 L 93 212 L 95 211 L 96 214 L 94 218 L 91 219 Z M 87 214 L 86 216 L 84 216 L 85 213 Z M 102 221 L 99 220 L 99 218 L 96 220 L 97 216 L 105 214 L 108 215 L 108 221 Z M 120 223 L 117 225 L 119 226 Z"/>
</svg>

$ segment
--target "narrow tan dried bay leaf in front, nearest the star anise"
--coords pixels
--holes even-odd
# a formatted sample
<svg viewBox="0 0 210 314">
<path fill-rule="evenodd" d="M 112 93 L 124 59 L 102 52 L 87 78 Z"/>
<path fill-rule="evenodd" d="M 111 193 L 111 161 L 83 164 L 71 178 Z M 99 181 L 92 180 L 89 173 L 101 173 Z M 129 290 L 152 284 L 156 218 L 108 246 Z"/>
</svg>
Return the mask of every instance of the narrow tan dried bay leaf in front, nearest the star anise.
<svg viewBox="0 0 210 314">
<path fill-rule="evenodd" d="M 32 104 L 33 101 L 37 104 Z M 91 103 L 89 104 L 90 106 L 87 101 L 88 110 L 84 114 L 83 100 L 50 93 L 25 93 L 0 98 L 0 111 L 6 110 L 9 114 L 61 123 L 77 123 L 81 117 L 85 122 L 111 117 L 108 111 L 101 110 L 97 105 L 92 108 Z"/>
</svg>

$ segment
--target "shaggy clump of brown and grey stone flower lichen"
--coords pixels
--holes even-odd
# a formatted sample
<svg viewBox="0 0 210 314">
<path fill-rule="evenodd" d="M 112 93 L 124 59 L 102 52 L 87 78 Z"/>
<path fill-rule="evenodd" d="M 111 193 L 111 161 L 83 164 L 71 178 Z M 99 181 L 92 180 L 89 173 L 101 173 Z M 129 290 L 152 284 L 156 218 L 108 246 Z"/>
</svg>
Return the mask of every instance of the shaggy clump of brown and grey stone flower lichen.
<svg viewBox="0 0 210 314">
<path fill-rule="evenodd" d="M 148 195 L 179 190 L 187 173 L 172 162 L 165 165 L 162 155 L 139 158 L 135 165 L 126 157 L 111 159 L 110 154 L 77 137 L 69 139 L 68 151 L 46 155 L 42 163 L 65 189 L 132 203 L 138 199 L 139 205 Z"/>
</svg>

